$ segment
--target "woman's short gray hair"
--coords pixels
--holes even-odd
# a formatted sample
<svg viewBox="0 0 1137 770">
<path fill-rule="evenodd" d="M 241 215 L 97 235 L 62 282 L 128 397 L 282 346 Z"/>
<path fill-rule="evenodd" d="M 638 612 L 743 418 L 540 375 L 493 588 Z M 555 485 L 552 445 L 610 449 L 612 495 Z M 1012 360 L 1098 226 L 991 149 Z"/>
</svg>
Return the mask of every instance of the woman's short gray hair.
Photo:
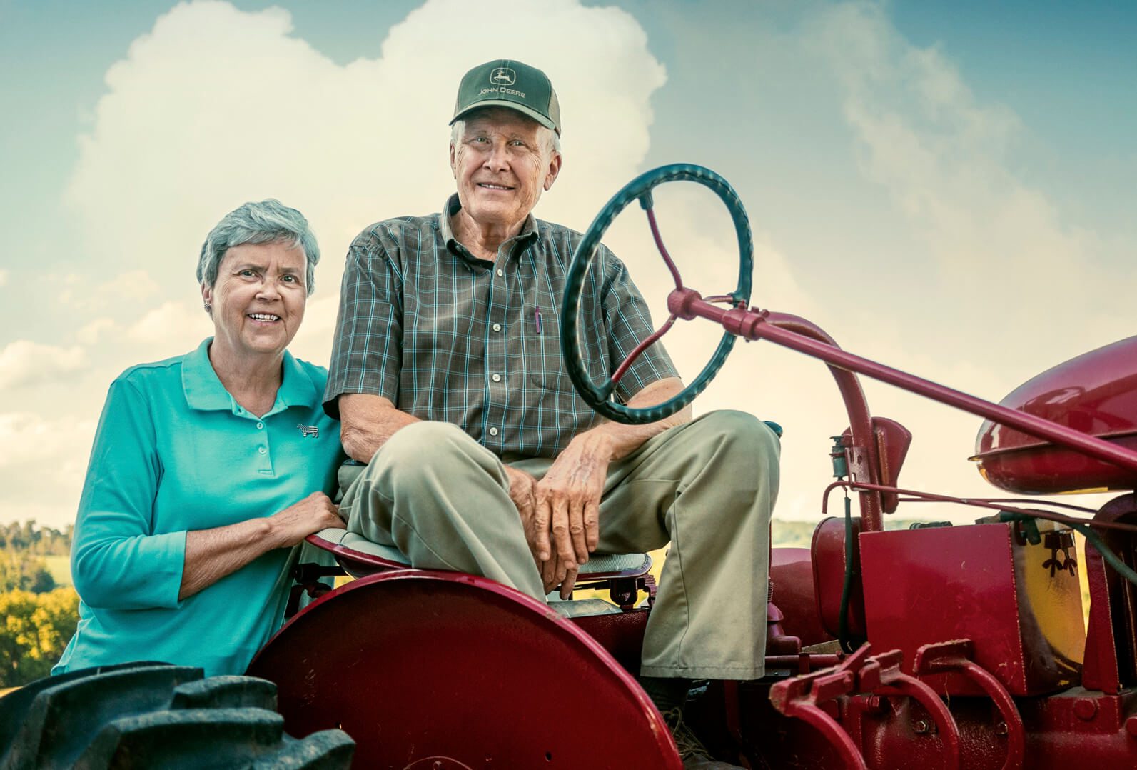
<svg viewBox="0 0 1137 770">
<path fill-rule="evenodd" d="M 315 268 L 319 262 L 319 246 L 304 214 L 275 198 L 249 201 L 234 208 L 209 231 L 198 259 L 198 283 L 209 287 L 217 283 L 217 267 L 225 258 L 225 252 L 244 243 L 288 243 L 290 248 L 302 248 L 308 260 L 308 296 L 312 296 L 316 288 Z"/>
</svg>

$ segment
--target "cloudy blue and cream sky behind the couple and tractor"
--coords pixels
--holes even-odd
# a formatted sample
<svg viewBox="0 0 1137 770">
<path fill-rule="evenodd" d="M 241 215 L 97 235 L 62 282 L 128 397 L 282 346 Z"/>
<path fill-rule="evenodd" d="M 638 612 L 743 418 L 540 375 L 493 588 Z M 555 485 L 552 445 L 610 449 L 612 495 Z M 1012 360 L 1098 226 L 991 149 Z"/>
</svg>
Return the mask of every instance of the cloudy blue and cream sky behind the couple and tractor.
<svg viewBox="0 0 1137 770">
<path fill-rule="evenodd" d="M 313 224 L 291 349 L 326 364 L 347 245 L 439 209 L 458 80 L 499 57 L 561 97 L 564 166 L 537 216 L 582 231 L 637 174 L 707 166 L 749 215 L 752 304 L 997 401 L 1134 333 L 1135 34 L 1137 6 L 1105 2 L 0 0 L 0 522 L 74 521 L 107 387 L 211 333 L 197 255 L 247 200 Z M 656 201 L 684 283 L 732 290 L 717 199 Z M 605 240 L 662 322 L 642 215 Z M 721 333 L 665 338 L 688 381 Z M 979 417 L 864 387 L 914 436 L 902 486 L 998 494 L 968 462 Z M 696 401 L 714 408 L 783 425 L 774 514 L 819 520 L 848 424 L 824 366 L 739 343 Z"/>
</svg>

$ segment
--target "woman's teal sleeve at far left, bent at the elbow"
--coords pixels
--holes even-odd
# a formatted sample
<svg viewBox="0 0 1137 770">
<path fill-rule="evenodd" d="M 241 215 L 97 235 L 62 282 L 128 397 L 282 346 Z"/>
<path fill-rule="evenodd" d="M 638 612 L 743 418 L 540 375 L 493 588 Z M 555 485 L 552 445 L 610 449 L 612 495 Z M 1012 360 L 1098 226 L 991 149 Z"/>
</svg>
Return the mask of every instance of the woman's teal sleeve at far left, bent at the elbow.
<svg viewBox="0 0 1137 770">
<path fill-rule="evenodd" d="M 72 579 L 88 606 L 177 606 L 185 531 L 155 531 L 161 474 L 149 400 L 119 378 L 99 420 L 72 546 Z"/>
</svg>

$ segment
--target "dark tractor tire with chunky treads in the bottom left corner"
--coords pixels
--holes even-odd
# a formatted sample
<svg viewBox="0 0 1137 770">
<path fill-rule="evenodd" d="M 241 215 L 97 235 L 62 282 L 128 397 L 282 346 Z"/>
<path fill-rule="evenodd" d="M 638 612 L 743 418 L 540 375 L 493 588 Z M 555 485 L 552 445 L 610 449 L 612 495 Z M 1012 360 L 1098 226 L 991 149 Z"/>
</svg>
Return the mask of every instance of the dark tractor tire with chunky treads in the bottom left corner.
<svg viewBox="0 0 1137 770">
<path fill-rule="evenodd" d="M 342 730 L 284 732 L 276 686 L 124 663 L 45 677 L 0 698 L 0 770 L 346 770 Z"/>
</svg>

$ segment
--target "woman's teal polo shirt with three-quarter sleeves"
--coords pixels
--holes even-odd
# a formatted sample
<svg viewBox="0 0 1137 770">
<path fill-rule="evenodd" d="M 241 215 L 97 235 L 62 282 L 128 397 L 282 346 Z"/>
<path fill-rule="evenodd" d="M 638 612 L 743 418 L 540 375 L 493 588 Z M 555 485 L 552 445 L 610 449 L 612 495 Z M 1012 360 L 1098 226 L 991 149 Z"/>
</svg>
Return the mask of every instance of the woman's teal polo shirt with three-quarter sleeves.
<svg viewBox="0 0 1137 770">
<path fill-rule="evenodd" d="M 276 401 L 258 417 L 217 379 L 211 341 L 110 386 L 72 545 L 78 629 L 52 673 L 135 660 L 241 673 L 281 626 L 294 548 L 179 602 L 185 533 L 335 494 L 343 455 L 321 406 L 327 373 L 285 351 Z"/>
</svg>

